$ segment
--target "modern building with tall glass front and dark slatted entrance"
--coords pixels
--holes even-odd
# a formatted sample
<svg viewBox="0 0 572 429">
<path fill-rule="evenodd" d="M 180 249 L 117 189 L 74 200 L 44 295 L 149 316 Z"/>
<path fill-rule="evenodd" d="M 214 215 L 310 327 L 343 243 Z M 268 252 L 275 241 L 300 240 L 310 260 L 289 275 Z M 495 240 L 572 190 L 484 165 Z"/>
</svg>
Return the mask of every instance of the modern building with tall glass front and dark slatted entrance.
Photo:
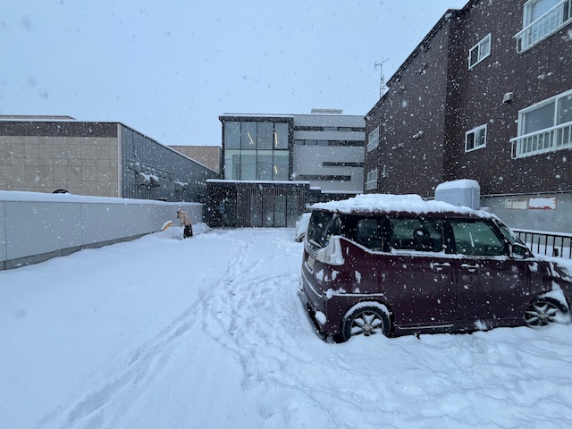
<svg viewBox="0 0 572 429">
<path fill-rule="evenodd" d="M 291 227 L 307 204 L 363 192 L 363 116 L 315 110 L 219 119 L 224 181 L 208 182 L 214 223 Z"/>
</svg>

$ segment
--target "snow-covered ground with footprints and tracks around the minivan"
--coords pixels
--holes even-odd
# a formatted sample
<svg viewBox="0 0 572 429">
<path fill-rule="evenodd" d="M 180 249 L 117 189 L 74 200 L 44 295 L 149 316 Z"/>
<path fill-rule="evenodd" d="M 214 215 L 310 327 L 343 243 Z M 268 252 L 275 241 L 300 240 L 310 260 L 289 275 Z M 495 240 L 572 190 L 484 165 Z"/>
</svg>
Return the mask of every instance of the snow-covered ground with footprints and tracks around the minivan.
<svg viewBox="0 0 572 429">
<path fill-rule="evenodd" d="M 1 427 L 572 427 L 572 325 L 328 344 L 291 229 L 195 231 L 0 272 Z"/>
</svg>

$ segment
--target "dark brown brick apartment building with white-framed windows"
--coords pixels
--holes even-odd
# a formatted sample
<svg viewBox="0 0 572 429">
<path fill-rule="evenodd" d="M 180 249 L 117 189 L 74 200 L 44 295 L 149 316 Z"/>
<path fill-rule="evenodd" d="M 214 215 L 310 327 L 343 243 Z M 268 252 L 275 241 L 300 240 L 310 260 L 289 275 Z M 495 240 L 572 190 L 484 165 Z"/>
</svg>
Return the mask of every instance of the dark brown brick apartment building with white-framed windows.
<svg viewBox="0 0 572 429">
<path fill-rule="evenodd" d="M 366 192 L 473 179 L 510 226 L 572 232 L 570 22 L 572 0 L 445 13 L 366 115 Z"/>
</svg>

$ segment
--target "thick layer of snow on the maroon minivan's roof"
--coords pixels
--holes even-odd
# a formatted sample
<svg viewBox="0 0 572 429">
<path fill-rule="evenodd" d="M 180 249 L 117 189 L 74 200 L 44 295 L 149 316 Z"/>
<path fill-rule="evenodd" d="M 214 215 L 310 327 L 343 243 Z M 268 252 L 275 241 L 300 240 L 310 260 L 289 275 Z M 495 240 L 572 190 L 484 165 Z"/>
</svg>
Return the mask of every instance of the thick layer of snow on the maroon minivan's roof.
<svg viewBox="0 0 572 429">
<path fill-rule="evenodd" d="M 426 213 L 458 213 L 476 214 L 492 217 L 481 210 L 473 210 L 465 206 L 453 206 L 443 201 L 425 201 L 419 195 L 391 195 L 391 194 L 361 194 L 354 198 L 342 201 L 329 201 L 316 203 L 310 209 L 322 209 L 338 213 L 378 213 L 378 212 L 406 212 L 416 214 Z"/>
</svg>

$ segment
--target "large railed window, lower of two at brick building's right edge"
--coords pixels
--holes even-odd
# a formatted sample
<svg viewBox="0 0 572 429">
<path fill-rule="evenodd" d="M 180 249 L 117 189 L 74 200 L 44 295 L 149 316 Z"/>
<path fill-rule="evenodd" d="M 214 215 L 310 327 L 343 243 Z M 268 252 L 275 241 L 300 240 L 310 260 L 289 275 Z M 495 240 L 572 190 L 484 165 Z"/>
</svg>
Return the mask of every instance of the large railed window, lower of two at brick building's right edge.
<svg viewBox="0 0 572 429">
<path fill-rule="evenodd" d="M 521 110 L 510 142 L 513 158 L 572 147 L 572 90 Z"/>
</svg>

